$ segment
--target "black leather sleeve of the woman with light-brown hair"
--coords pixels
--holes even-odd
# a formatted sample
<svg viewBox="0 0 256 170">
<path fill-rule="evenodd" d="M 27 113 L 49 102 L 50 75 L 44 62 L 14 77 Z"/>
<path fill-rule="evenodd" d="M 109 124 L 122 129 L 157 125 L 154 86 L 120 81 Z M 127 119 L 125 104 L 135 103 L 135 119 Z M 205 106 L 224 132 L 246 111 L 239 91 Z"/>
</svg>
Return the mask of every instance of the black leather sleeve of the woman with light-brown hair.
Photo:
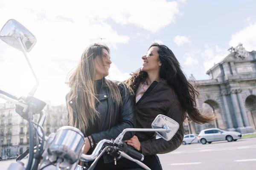
<svg viewBox="0 0 256 170">
<path fill-rule="evenodd" d="M 134 102 L 129 93 L 127 87 L 122 83 L 118 84 L 119 91 L 122 97 L 122 104 L 120 105 L 119 114 L 119 124 L 111 127 L 108 130 L 93 133 L 91 136 L 93 141 L 98 143 L 102 139 L 116 139 L 116 137 L 126 128 L 135 128 L 136 127 L 136 117 L 135 117 L 135 107 Z M 122 140 L 131 139 L 134 136 L 135 132 L 127 132 Z"/>
</svg>

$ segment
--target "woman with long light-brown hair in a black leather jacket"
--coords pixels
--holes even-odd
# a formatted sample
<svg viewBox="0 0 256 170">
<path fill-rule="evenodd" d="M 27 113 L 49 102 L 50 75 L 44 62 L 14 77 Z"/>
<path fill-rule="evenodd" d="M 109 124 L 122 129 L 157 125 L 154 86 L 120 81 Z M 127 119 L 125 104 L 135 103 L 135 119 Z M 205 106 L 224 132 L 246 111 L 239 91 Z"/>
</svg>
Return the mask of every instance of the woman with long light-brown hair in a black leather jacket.
<svg viewBox="0 0 256 170">
<path fill-rule="evenodd" d="M 128 93 L 128 86 L 105 79 L 111 65 L 109 53 L 105 45 L 90 45 L 67 82 L 70 86 L 66 96 L 68 124 L 84 133 L 84 154 L 91 154 L 100 140 L 115 139 L 122 130 L 136 125 L 134 102 Z M 132 136 L 134 133 L 128 132 L 123 139 Z M 92 162 L 88 164 L 90 166 Z M 114 169 L 122 165 L 115 164 L 116 158 L 105 153 L 95 170 Z"/>
</svg>

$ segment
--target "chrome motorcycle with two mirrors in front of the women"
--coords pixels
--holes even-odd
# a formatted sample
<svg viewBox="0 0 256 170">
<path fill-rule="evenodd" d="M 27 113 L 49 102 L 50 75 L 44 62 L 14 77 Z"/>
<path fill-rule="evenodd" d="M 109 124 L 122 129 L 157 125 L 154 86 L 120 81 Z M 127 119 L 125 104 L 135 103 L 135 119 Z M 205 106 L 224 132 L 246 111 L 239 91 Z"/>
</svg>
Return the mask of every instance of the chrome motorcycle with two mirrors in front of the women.
<svg viewBox="0 0 256 170">
<path fill-rule="evenodd" d="M 6 22 L 0 31 L 0 40 L 23 52 L 30 70 L 35 78 L 36 85 L 26 97 L 17 98 L 0 89 L 0 97 L 16 104 L 15 111 L 29 122 L 29 149 L 20 155 L 15 163 L 10 164 L 8 170 L 83 170 L 79 161 L 93 161 L 87 170 L 93 170 L 97 161 L 107 152 L 117 159 L 125 158 L 136 162 L 145 170 L 150 170 L 143 164 L 144 155 L 132 150 L 122 141 L 126 132 L 156 132 L 158 136 L 169 141 L 175 135 L 179 124 L 173 119 L 158 115 L 148 129 L 128 128 L 124 129 L 116 139 L 102 139 L 91 155 L 83 154 L 85 138 L 83 133 L 71 126 L 63 126 L 56 133 L 46 136 L 42 125 L 46 118 L 44 107 L 46 103 L 34 97 L 39 81 L 32 68 L 27 53 L 35 46 L 35 36 L 18 21 L 11 19 Z M 33 122 L 33 116 L 40 114 L 38 122 Z M 28 156 L 26 167 L 21 162 Z"/>
</svg>

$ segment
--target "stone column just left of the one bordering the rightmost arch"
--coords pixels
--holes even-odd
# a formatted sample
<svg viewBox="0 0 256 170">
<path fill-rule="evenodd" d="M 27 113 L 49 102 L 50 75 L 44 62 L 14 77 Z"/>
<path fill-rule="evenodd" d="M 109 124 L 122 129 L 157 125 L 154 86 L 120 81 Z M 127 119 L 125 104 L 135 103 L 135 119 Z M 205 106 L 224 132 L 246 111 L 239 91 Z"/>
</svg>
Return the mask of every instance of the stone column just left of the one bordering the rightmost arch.
<svg viewBox="0 0 256 170">
<path fill-rule="evenodd" d="M 244 127 L 244 124 L 243 124 L 243 119 L 241 117 L 241 111 L 240 111 L 240 108 L 239 108 L 239 103 L 237 101 L 237 97 L 236 97 L 236 90 L 231 90 L 230 91 L 230 96 L 231 96 L 231 99 L 232 99 L 232 104 L 233 104 L 233 108 L 234 108 L 234 112 L 235 112 L 235 116 L 236 116 L 236 123 L 237 123 L 237 128 L 236 130 L 239 131 L 239 132 L 244 132 L 245 130 L 245 127 Z"/>
</svg>

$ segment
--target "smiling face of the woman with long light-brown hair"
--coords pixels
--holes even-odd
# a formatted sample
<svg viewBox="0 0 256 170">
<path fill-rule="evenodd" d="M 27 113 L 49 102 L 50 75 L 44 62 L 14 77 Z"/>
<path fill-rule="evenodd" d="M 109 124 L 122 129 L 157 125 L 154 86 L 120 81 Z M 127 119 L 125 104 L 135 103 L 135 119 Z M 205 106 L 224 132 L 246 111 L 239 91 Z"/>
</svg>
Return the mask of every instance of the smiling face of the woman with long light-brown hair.
<svg viewBox="0 0 256 170">
<path fill-rule="evenodd" d="M 95 80 L 102 79 L 103 77 L 108 76 L 108 70 L 111 65 L 110 55 L 106 49 L 102 49 L 102 59 L 99 56 L 96 56 L 93 59 L 95 67 Z"/>
</svg>

